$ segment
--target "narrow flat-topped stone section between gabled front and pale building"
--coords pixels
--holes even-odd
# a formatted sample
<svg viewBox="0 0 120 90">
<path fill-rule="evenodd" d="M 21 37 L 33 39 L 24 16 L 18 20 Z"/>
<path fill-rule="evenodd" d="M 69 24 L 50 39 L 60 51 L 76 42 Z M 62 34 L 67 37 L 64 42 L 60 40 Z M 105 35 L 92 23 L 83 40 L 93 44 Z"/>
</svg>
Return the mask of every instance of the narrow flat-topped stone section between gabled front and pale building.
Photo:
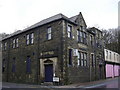
<svg viewBox="0 0 120 90">
<path fill-rule="evenodd" d="M 92 27 L 89 32 L 90 80 L 105 78 L 104 42 L 102 31 Z"/>
</svg>

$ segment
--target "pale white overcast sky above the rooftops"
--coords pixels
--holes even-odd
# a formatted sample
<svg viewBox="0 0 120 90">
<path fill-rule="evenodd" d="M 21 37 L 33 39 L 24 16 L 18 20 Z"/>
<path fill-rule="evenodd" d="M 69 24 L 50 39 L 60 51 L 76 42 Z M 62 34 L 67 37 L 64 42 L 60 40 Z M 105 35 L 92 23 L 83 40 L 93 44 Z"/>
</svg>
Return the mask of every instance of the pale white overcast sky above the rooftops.
<svg viewBox="0 0 120 90">
<path fill-rule="evenodd" d="M 62 13 L 82 12 L 88 27 L 118 27 L 119 0 L 0 0 L 0 33 L 23 30 L 43 19 Z"/>
</svg>

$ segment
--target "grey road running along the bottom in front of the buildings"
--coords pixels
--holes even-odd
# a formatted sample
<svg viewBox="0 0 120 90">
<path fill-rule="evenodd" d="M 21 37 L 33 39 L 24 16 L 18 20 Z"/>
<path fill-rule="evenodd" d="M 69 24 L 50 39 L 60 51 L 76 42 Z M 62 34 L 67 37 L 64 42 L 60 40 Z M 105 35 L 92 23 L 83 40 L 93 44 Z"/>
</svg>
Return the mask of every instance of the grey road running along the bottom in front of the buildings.
<svg viewBox="0 0 120 90">
<path fill-rule="evenodd" d="M 120 77 L 111 78 L 93 83 L 87 83 L 83 85 L 66 85 L 66 86 L 42 86 L 42 85 L 28 85 L 28 84 L 16 84 L 6 83 L 2 84 L 2 90 L 79 90 L 79 89 L 93 89 L 93 88 L 120 88 Z M 115 90 L 115 89 L 114 89 Z"/>
</svg>

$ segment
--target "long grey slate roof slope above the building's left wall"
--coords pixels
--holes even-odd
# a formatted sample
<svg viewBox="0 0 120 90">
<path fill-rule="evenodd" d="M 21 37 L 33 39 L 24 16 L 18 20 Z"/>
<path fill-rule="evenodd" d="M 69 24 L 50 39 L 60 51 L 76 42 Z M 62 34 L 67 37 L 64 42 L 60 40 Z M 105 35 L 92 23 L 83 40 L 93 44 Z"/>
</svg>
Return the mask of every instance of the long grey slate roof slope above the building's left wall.
<svg viewBox="0 0 120 90">
<path fill-rule="evenodd" d="M 54 15 L 54 16 L 49 17 L 49 18 L 47 18 L 47 19 L 44 19 L 44 20 L 42 20 L 42 21 L 40 21 L 40 22 L 38 22 L 38 23 L 36 23 L 36 24 L 34 24 L 34 25 L 32 25 L 32 26 L 30 26 L 30 27 L 28 27 L 28 28 L 26 28 L 26 29 L 24 29 L 24 30 L 22 30 L 22 31 L 19 30 L 19 31 L 17 31 L 17 32 L 14 32 L 14 33 L 10 34 L 9 36 L 3 38 L 2 40 L 5 40 L 5 39 L 10 38 L 10 37 L 12 37 L 12 36 L 15 36 L 15 35 L 17 35 L 17 34 L 23 33 L 23 32 L 25 32 L 25 31 L 31 30 L 31 29 L 33 29 L 33 28 L 39 27 L 39 26 L 41 26 L 41 25 L 44 25 L 44 24 L 47 24 L 47 23 L 50 23 L 50 22 L 52 22 L 52 21 L 59 20 L 59 19 L 65 19 L 65 20 L 67 20 L 67 21 L 69 21 L 69 22 L 71 22 L 71 23 L 73 23 L 73 24 L 76 24 L 72 19 L 69 19 L 69 18 L 66 17 L 65 15 L 59 13 L 59 14 L 57 14 L 57 15 Z"/>
</svg>

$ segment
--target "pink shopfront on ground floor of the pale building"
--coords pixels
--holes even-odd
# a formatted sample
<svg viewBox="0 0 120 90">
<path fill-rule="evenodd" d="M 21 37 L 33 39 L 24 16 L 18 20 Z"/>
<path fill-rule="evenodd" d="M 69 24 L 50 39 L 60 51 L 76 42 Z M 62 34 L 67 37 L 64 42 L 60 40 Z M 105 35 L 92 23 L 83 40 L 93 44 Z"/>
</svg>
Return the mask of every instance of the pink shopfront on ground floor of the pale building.
<svg viewBox="0 0 120 90">
<path fill-rule="evenodd" d="M 106 78 L 120 76 L 120 65 L 106 64 Z"/>
</svg>

